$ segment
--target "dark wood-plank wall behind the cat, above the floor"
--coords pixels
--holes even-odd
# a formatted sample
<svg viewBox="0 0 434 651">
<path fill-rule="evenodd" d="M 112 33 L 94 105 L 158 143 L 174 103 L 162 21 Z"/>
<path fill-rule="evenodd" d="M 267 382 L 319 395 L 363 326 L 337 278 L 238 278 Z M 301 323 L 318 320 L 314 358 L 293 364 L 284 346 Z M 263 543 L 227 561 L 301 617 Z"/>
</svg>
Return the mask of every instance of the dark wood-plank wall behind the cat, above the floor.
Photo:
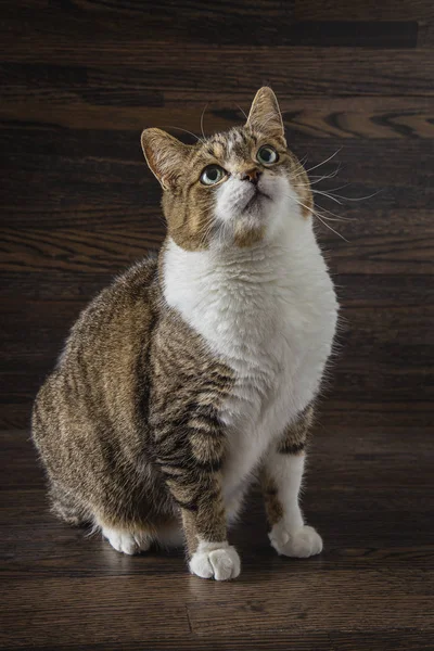
<svg viewBox="0 0 434 651">
<path fill-rule="evenodd" d="M 322 411 L 431 423 L 434 9 L 399 2 L 1 2 L 0 426 L 28 423 L 79 310 L 164 235 L 145 126 L 225 129 L 263 84 L 290 145 L 370 200 L 318 205 L 344 329 Z M 182 138 L 182 132 L 177 132 Z M 188 137 L 187 137 L 188 140 Z M 329 215 L 330 217 L 330 215 Z"/>
</svg>

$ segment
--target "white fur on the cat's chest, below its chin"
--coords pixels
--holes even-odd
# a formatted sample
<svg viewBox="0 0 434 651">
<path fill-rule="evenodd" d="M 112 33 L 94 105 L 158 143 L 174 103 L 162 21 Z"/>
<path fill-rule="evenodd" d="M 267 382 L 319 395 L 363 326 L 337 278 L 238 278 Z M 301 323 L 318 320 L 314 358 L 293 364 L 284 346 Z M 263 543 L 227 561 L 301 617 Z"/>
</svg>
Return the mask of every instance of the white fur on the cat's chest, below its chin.
<svg viewBox="0 0 434 651">
<path fill-rule="evenodd" d="M 220 413 L 229 497 L 318 392 L 336 327 L 333 284 L 306 221 L 237 252 L 187 252 L 169 241 L 164 293 L 234 371 Z"/>
</svg>

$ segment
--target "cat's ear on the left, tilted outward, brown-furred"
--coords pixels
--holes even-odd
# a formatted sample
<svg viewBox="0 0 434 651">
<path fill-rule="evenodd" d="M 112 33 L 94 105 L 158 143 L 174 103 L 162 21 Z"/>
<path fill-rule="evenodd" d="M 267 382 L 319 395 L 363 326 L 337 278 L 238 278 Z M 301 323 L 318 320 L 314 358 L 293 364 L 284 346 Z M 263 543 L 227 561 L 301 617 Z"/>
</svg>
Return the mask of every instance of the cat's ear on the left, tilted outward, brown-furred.
<svg viewBox="0 0 434 651">
<path fill-rule="evenodd" d="M 146 163 L 163 190 L 176 186 L 190 146 L 161 129 L 144 129 L 141 143 Z"/>
</svg>

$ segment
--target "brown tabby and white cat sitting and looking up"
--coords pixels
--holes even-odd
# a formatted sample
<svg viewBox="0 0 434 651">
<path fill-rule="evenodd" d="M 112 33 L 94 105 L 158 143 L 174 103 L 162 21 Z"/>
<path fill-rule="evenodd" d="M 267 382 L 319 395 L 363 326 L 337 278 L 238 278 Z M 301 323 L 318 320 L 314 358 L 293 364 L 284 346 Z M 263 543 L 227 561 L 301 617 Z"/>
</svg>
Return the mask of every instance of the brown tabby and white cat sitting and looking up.
<svg viewBox="0 0 434 651">
<path fill-rule="evenodd" d="M 193 145 L 141 143 L 167 237 L 81 312 L 37 396 L 52 511 L 127 554 L 181 535 L 190 572 L 225 580 L 258 478 L 276 551 L 319 553 L 298 493 L 339 306 L 276 95 Z"/>
</svg>

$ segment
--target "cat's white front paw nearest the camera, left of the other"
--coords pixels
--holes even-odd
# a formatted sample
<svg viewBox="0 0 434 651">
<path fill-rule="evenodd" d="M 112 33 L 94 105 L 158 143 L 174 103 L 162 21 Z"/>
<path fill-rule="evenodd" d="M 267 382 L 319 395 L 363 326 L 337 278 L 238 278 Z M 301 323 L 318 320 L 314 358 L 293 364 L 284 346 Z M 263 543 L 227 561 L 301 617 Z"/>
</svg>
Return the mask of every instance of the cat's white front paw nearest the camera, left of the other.
<svg viewBox="0 0 434 651">
<path fill-rule="evenodd" d="M 237 549 L 228 542 L 200 542 L 189 567 L 201 578 L 228 580 L 240 574 L 241 562 Z"/>
</svg>

